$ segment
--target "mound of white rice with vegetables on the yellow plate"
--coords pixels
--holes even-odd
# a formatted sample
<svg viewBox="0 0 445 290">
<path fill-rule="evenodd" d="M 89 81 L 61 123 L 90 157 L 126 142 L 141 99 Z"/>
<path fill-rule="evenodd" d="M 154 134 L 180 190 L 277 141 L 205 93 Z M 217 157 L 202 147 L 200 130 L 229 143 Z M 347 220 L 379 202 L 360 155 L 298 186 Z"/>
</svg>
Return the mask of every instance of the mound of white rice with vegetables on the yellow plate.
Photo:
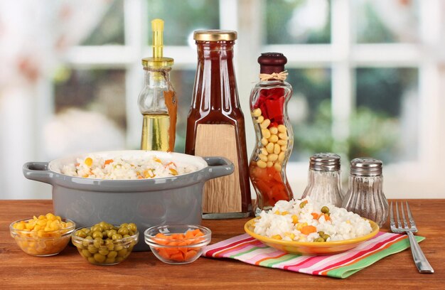
<svg viewBox="0 0 445 290">
<path fill-rule="evenodd" d="M 276 240 L 333 242 L 372 232 L 370 222 L 344 208 L 310 198 L 279 200 L 272 210 L 259 214 L 254 232 Z"/>
</svg>

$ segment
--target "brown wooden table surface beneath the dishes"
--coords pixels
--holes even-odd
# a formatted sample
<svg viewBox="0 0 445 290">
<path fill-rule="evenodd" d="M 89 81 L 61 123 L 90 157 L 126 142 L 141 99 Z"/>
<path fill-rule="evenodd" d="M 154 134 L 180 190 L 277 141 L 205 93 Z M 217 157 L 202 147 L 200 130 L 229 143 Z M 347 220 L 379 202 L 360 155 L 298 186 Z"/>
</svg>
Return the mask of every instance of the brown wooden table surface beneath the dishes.
<svg viewBox="0 0 445 290">
<path fill-rule="evenodd" d="M 51 200 L 0 200 L 0 289 L 445 289 L 445 200 L 410 200 L 421 247 L 434 274 L 419 274 L 404 250 L 346 279 L 269 269 L 233 259 L 200 257 L 169 265 L 151 252 L 134 252 L 114 266 L 89 264 L 69 246 L 53 257 L 32 257 L 9 234 L 14 220 L 52 212 Z M 241 220 L 203 220 L 212 243 L 244 233 Z M 385 225 L 382 230 L 387 230 Z"/>
</svg>

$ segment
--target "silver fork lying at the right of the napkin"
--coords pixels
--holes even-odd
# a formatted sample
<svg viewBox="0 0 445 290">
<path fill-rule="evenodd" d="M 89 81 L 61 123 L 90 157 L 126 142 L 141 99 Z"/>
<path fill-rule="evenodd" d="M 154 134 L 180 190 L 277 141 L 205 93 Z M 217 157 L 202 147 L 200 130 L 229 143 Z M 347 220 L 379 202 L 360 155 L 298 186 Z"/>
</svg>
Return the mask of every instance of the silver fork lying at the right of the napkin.
<svg viewBox="0 0 445 290">
<path fill-rule="evenodd" d="M 417 232 L 417 227 L 416 227 L 416 224 L 414 223 L 414 218 L 412 218 L 411 210 L 409 210 L 408 202 L 407 202 L 407 213 L 408 213 L 408 218 L 409 218 L 409 224 L 411 225 L 410 227 L 408 227 L 408 222 L 404 215 L 403 203 L 400 203 L 400 208 L 402 210 L 402 219 L 403 219 L 404 226 L 402 226 L 402 222 L 400 222 L 399 206 L 396 202 L 395 203 L 395 213 L 396 213 L 396 217 L 397 217 L 397 227 L 396 227 L 395 220 L 394 220 L 394 213 L 392 210 L 392 202 L 391 202 L 391 205 L 390 205 L 391 231 L 396 232 L 398 234 L 402 234 L 404 232 L 407 233 L 407 235 L 409 237 L 409 244 L 411 245 L 411 252 L 412 252 L 412 257 L 414 259 L 414 264 L 416 264 L 416 267 L 417 267 L 417 269 L 419 269 L 420 273 L 434 273 L 433 267 L 431 267 L 431 265 L 429 264 L 427 257 L 425 257 L 424 252 L 422 252 L 422 249 L 420 249 L 419 243 L 417 242 L 416 238 L 414 237 L 413 232 Z"/>
</svg>

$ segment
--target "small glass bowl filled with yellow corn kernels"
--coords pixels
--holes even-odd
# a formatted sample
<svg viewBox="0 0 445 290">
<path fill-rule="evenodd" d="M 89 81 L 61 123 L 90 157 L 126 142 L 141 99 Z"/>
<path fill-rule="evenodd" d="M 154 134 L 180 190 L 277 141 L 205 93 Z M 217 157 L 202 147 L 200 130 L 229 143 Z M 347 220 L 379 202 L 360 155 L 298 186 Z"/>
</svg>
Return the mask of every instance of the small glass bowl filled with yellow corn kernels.
<svg viewBox="0 0 445 290">
<path fill-rule="evenodd" d="M 37 257 L 53 256 L 62 252 L 75 230 L 75 222 L 48 213 L 9 225 L 11 237 L 23 252 Z"/>
</svg>

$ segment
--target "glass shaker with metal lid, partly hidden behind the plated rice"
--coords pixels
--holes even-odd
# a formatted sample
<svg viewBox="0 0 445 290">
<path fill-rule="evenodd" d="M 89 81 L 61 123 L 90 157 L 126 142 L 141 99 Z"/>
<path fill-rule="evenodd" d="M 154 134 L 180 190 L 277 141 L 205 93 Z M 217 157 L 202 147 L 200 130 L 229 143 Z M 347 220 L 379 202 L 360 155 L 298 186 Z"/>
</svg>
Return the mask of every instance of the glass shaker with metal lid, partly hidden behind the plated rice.
<svg viewBox="0 0 445 290">
<path fill-rule="evenodd" d="M 341 207 L 342 191 L 340 178 L 340 156 L 333 153 L 313 154 L 309 159 L 308 186 L 301 198 L 311 197 L 322 203 Z"/>
</svg>

